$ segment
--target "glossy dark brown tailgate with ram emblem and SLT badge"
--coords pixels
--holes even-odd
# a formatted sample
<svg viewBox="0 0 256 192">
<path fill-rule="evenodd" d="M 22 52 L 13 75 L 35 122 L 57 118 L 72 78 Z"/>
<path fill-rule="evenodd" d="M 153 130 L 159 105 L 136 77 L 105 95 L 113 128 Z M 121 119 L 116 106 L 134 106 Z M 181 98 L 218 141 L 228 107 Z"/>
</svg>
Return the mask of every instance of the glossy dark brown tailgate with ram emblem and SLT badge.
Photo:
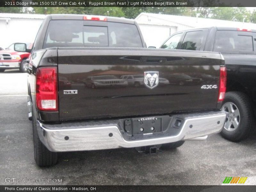
<svg viewBox="0 0 256 192">
<path fill-rule="evenodd" d="M 145 77 L 148 73 L 149 77 L 158 76 L 158 84 L 152 84 L 156 85 L 154 88 L 148 80 L 146 86 L 144 78 L 121 78 Z M 61 121 L 208 110 L 217 105 L 220 54 L 59 48 L 58 75 Z M 203 85 L 217 88 L 204 89 Z"/>
</svg>

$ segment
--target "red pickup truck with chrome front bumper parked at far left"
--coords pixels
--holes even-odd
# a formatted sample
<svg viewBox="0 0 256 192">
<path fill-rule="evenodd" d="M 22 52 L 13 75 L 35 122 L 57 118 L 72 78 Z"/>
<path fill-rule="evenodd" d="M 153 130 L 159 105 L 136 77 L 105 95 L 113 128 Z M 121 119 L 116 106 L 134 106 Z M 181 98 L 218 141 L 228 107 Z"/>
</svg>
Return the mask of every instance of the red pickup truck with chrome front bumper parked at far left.
<svg viewBox="0 0 256 192">
<path fill-rule="evenodd" d="M 26 45 L 28 49 L 31 49 L 33 43 L 26 43 Z M 24 48 L 20 47 L 20 49 Z M 0 51 L 0 72 L 4 72 L 5 69 L 15 68 L 19 68 L 22 73 L 27 72 L 28 63 L 26 59 L 28 59 L 29 55 L 30 53 L 28 52 L 14 51 L 14 43 L 11 44 L 6 49 Z"/>
</svg>

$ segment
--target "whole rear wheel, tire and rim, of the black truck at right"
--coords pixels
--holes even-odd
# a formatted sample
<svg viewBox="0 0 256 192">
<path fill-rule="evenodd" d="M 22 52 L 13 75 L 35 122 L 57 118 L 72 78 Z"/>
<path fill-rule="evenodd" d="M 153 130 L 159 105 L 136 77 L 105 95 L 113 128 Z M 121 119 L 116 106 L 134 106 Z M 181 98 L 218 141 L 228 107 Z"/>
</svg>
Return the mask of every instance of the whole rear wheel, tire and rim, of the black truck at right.
<svg viewBox="0 0 256 192">
<path fill-rule="evenodd" d="M 245 93 L 227 92 L 222 110 L 228 112 L 226 123 L 221 131 L 222 137 L 237 142 L 245 139 L 252 132 L 255 125 L 254 113 L 250 98 Z"/>
</svg>

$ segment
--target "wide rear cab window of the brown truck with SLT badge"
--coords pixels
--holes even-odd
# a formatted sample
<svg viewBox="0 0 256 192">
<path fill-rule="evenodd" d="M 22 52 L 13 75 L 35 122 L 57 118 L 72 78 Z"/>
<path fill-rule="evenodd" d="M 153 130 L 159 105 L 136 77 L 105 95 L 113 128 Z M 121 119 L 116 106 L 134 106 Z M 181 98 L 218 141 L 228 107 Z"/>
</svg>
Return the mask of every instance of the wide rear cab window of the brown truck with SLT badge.
<svg viewBox="0 0 256 192">
<path fill-rule="evenodd" d="M 108 22 L 108 26 L 84 26 L 83 20 L 50 21 L 43 48 L 142 47 L 136 25 Z"/>
</svg>

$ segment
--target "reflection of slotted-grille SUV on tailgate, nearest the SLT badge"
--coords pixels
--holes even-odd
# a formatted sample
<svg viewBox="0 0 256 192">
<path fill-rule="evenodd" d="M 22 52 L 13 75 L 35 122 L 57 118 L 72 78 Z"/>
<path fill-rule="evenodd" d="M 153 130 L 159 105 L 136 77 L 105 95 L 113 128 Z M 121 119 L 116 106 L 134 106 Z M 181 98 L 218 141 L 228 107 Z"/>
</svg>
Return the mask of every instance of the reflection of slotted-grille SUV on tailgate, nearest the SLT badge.
<svg viewBox="0 0 256 192">
<path fill-rule="evenodd" d="M 127 81 L 123 79 L 118 79 L 113 75 L 101 75 L 101 76 L 89 76 L 84 79 L 84 84 L 86 87 L 91 87 L 92 89 L 100 87 L 116 87 L 116 86 L 127 86 Z"/>
</svg>

